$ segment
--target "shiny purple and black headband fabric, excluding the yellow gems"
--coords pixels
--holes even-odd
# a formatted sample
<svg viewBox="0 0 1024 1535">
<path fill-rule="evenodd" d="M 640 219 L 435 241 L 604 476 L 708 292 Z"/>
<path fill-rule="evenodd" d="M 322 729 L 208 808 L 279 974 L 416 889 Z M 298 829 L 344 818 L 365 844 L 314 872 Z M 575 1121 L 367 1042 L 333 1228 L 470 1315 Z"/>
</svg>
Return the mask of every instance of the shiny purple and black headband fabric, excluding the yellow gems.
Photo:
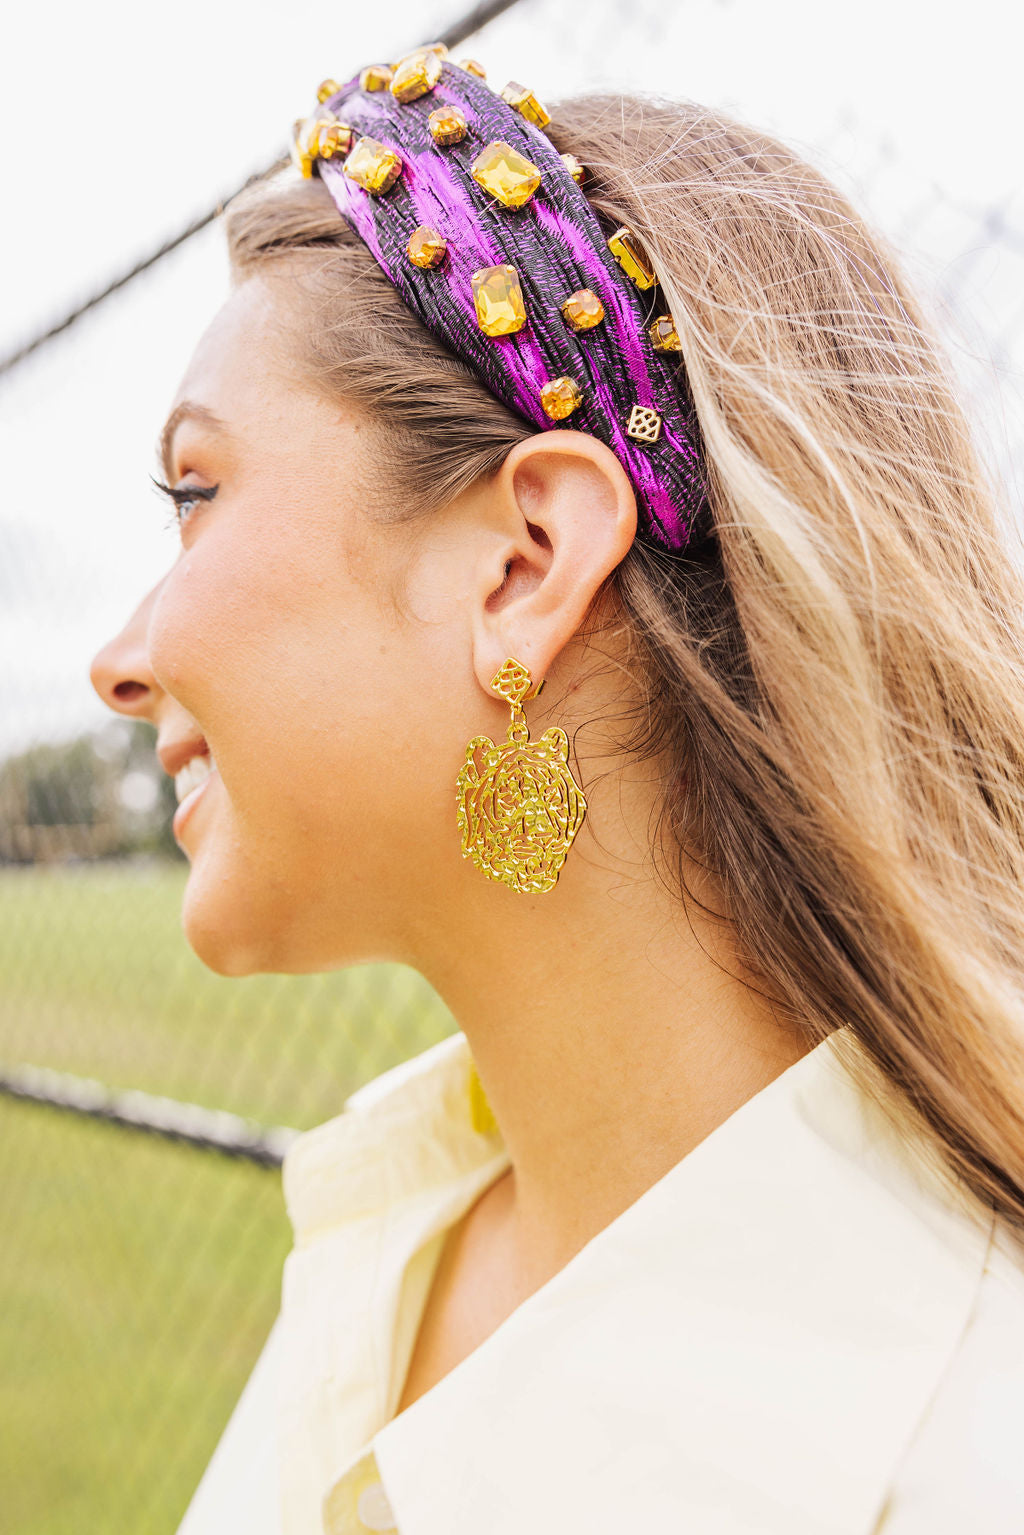
<svg viewBox="0 0 1024 1535">
<path fill-rule="evenodd" d="M 474 368 L 500 401 L 542 430 L 586 431 L 605 442 L 626 470 L 640 530 L 660 548 L 685 548 L 705 507 L 692 407 L 679 353 L 660 353 L 646 327 L 666 305 L 660 289 L 640 292 L 608 249 L 606 235 L 547 134 L 527 121 L 484 80 L 447 60 L 439 83 L 416 101 L 390 91 L 361 91 L 353 77 L 324 103 L 358 134 L 381 140 L 402 158 L 402 173 L 381 196 L 345 177 L 341 158 L 318 172 L 338 210 L 367 244 L 410 309 L 451 352 Z M 441 147 L 427 118 L 456 104 L 468 134 Z M 531 160 L 540 186 L 520 209 L 490 198 L 470 175 L 481 149 L 504 140 Z M 441 266 L 421 269 L 405 246 L 419 224 L 444 235 Z M 519 272 L 527 324 L 511 336 L 488 336 L 476 322 L 470 278 L 477 267 L 510 262 Z M 573 332 L 560 305 L 593 289 L 605 319 Z M 551 421 L 540 404 L 548 379 L 573 378 L 583 404 Z M 626 436 L 634 405 L 662 418 L 657 442 Z"/>
</svg>

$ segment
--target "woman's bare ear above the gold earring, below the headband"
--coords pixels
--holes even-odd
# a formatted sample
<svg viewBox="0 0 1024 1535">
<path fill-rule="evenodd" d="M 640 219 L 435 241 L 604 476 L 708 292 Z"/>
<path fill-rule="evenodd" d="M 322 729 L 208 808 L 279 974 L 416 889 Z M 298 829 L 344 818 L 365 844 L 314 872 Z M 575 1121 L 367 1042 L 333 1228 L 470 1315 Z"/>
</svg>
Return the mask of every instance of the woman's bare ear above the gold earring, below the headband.
<svg viewBox="0 0 1024 1535">
<path fill-rule="evenodd" d="M 580 629 L 637 531 L 629 477 L 603 442 L 542 431 L 517 442 L 488 484 L 488 523 L 473 606 L 482 688 L 510 657 L 534 686 Z"/>
</svg>

